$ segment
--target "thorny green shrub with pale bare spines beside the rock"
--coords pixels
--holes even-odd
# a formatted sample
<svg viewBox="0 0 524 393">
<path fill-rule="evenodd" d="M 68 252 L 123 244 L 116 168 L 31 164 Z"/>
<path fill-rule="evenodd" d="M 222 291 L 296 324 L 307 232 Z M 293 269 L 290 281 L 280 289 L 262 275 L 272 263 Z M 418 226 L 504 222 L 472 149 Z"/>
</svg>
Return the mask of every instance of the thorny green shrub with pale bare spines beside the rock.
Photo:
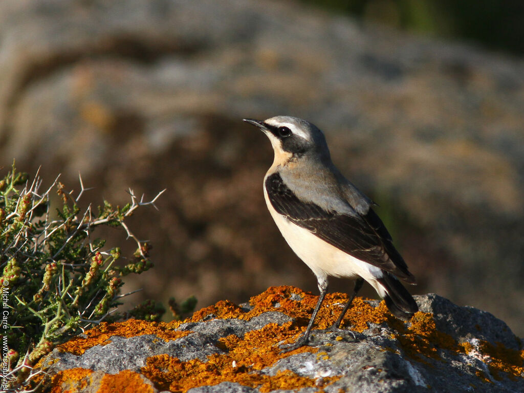
<svg viewBox="0 0 524 393">
<path fill-rule="evenodd" d="M 43 191 L 41 183 L 38 173 L 28 181 L 14 165 L 0 180 L 3 388 L 12 391 L 27 385 L 37 373 L 32 367 L 38 359 L 72 335 L 101 321 L 130 316 L 158 320 L 165 311 L 152 301 L 127 313 L 116 309 L 126 296 L 120 291 L 122 278 L 152 266 L 148 243 L 125 220 L 141 206 L 156 208 L 163 191 L 145 202 L 129 190 L 130 202 L 123 207 L 104 201 L 98 209 L 89 205 L 81 210 L 82 178 L 76 196 L 65 192 L 58 178 Z M 51 208 L 53 190 L 60 209 Z M 100 226 L 122 228 L 137 244 L 134 255 L 125 258 L 119 247 L 104 248 L 105 241 L 93 237 Z"/>
</svg>

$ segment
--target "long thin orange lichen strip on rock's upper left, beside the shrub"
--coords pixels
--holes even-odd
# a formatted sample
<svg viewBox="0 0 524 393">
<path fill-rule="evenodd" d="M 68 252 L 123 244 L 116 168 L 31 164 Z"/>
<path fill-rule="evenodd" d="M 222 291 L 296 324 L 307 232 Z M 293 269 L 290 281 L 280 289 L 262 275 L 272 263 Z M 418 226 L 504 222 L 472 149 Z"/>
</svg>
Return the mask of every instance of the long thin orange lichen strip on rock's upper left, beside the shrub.
<svg viewBox="0 0 524 393">
<path fill-rule="evenodd" d="M 176 340 L 186 336 L 191 331 L 174 330 L 180 325 L 180 321 L 173 322 L 147 322 L 135 319 L 129 319 L 124 322 L 106 323 L 102 322 L 93 329 L 86 330 L 87 337 L 74 337 L 67 343 L 58 345 L 61 352 L 70 352 L 74 355 L 81 355 L 85 350 L 95 345 L 106 345 L 111 342 L 112 336 L 135 337 L 145 334 L 154 334 L 159 339 L 169 341 Z"/>
</svg>

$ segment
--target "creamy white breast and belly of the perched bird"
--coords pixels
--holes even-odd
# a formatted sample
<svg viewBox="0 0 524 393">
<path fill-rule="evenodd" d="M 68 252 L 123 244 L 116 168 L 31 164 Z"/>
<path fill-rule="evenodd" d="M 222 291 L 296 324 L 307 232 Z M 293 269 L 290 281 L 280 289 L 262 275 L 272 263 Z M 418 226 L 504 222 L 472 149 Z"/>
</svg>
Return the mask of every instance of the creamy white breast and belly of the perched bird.
<svg viewBox="0 0 524 393">
<path fill-rule="evenodd" d="M 344 253 L 277 213 L 269 201 L 266 187 L 264 187 L 264 198 L 280 233 L 294 253 L 313 270 L 318 279 L 325 280 L 328 276 L 348 278 L 360 276 L 375 288 L 380 297 L 386 295 L 384 287 L 377 282 L 377 278 L 383 276 L 378 267 Z"/>
</svg>

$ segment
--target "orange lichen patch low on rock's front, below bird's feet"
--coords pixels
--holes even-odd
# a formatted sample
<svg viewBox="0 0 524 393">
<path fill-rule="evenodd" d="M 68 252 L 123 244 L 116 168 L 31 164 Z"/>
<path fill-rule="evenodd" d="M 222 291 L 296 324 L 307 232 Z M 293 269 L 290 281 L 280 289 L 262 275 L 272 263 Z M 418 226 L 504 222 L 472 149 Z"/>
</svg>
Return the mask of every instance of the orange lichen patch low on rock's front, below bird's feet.
<svg viewBox="0 0 524 393">
<path fill-rule="evenodd" d="M 271 366 L 281 358 L 301 353 L 316 352 L 316 348 L 301 347 L 298 350 L 281 354 L 278 342 L 289 335 L 289 330 L 297 332 L 291 322 L 281 326 L 270 323 L 260 330 L 247 332 L 243 338 L 230 335 L 219 340 L 217 346 L 227 351 L 225 354 L 208 356 L 206 362 L 191 359 L 181 362 L 169 355 L 151 356 L 141 372 L 160 390 L 185 392 L 199 386 L 212 386 L 224 381 L 256 388 L 261 392 L 276 389 L 301 389 L 304 387 L 323 387 L 334 383 L 340 377 L 312 379 L 301 377 L 291 371 L 278 372 L 275 376 L 265 375 L 261 369 Z"/>
</svg>

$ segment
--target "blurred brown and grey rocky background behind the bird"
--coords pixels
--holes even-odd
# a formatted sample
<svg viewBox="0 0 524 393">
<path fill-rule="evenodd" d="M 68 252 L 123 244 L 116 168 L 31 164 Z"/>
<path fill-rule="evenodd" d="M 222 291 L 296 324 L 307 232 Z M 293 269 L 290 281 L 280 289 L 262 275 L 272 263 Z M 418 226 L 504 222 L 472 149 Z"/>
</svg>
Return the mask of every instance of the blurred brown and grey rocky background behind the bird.
<svg viewBox="0 0 524 393">
<path fill-rule="evenodd" d="M 316 292 L 266 210 L 270 144 L 241 121 L 303 117 L 380 205 L 413 293 L 524 335 L 521 3 L 483 2 L 498 10 L 484 14 L 471 1 L 313 3 L 3 0 L 2 172 L 15 158 L 77 191 L 80 172 L 95 204 L 166 188 L 159 212 L 130 223 L 156 264 L 127 283 L 144 288 L 133 303 Z"/>
</svg>

